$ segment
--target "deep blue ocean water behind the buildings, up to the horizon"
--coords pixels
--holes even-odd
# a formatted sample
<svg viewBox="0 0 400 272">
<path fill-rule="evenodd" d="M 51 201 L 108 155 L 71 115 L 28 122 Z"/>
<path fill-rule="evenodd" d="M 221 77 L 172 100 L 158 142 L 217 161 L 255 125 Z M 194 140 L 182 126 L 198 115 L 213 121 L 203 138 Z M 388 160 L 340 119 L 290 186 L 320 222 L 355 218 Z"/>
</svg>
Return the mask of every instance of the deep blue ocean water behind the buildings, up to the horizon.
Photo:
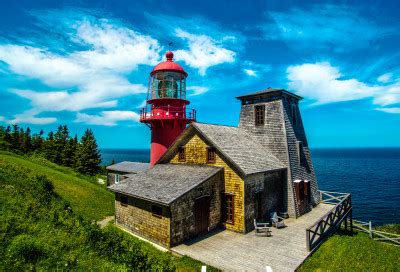
<svg viewBox="0 0 400 272">
<path fill-rule="evenodd" d="M 102 149 L 112 160 L 149 162 L 148 149 Z M 400 148 L 311 149 L 319 189 L 352 194 L 353 217 L 374 225 L 400 223 Z"/>
</svg>

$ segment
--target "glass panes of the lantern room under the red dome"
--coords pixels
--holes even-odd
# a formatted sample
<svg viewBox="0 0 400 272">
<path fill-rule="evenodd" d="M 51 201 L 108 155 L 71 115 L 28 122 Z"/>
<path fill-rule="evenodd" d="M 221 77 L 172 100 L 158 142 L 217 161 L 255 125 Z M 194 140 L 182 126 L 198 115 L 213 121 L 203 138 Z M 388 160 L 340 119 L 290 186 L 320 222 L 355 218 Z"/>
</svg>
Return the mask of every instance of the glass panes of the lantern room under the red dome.
<svg viewBox="0 0 400 272">
<path fill-rule="evenodd" d="M 186 99 L 186 77 L 177 72 L 157 72 L 150 78 L 150 99 Z"/>
</svg>

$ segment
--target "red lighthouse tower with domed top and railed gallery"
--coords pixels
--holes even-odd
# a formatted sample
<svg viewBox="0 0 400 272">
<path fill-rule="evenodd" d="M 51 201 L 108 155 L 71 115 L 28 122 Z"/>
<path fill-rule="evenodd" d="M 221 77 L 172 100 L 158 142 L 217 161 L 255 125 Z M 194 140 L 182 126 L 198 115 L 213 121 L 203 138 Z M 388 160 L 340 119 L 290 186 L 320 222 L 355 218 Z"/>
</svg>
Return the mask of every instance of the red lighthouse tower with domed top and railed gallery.
<svg viewBox="0 0 400 272">
<path fill-rule="evenodd" d="M 187 109 L 187 73 L 175 63 L 168 51 L 167 60 L 157 64 L 150 73 L 146 107 L 140 112 L 140 122 L 151 129 L 150 165 L 154 165 L 186 125 L 196 121 L 196 110 Z"/>
</svg>

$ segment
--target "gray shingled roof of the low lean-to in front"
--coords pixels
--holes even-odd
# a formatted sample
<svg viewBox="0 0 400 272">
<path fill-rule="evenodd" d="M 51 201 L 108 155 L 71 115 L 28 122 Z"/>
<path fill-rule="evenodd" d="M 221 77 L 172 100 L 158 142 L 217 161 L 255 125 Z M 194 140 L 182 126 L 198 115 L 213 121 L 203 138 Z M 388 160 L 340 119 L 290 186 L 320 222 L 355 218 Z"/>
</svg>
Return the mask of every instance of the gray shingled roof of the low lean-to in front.
<svg viewBox="0 0 400 272">
<path fill-rule="evenodd" d="M 157 164 L 108 188 L 168 205 L 221 169 L 205 165 Z"/>
</svg>

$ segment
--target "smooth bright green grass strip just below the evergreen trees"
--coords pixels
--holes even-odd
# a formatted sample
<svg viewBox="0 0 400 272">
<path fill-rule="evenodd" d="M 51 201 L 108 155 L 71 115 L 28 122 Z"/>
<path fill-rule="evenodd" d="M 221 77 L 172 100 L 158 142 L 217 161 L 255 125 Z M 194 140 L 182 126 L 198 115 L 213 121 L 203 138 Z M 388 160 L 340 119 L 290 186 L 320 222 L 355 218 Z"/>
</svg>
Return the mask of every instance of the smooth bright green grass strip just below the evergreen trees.
<svg viewBox="0 0 400 272">
<path fill-rule="evenodd" d="M 114 195 L 96 184 L 94 178 L 40 157 L 22 157 L 0 151 L 0 167 L 6 165 L 27 168 L 32 176 L 47 176 L 54 184 L 55 192 L 70 202 L 73 211 L 85 219 L 100 220 L 114 213 Z"/>
</svg>

